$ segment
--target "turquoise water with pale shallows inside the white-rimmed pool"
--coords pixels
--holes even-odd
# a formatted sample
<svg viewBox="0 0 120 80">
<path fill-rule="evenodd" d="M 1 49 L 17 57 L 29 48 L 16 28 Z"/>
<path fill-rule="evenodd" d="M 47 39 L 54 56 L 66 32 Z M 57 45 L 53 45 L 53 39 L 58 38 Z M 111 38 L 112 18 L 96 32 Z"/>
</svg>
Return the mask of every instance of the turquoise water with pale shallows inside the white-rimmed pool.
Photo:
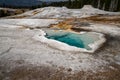
<svg viewBox="0 0 120 80">
<path fill-rule="evenodd" d="M 93 34 L 76 34 L 72 32 L 66 31 L 46 31 L 46 37 L 48 39 L 54 39 L 63 43 L 67 43 L 68 45 L 75 46 L 78 48 L 86 48 L 91 50 L 88 44 L 93 43 L 96 38 L 93 38 Z M 54 45 L 54 44 L 53 44 Z"/>
</svg>

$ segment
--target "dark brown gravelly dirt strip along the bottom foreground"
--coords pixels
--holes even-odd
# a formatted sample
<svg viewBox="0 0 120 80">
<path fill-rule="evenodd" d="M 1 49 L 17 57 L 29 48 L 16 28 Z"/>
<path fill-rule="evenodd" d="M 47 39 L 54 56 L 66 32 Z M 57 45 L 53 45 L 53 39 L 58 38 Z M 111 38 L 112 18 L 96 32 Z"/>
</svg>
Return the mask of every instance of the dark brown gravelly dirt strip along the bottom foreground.
<svg viewBox="0 0 120 80">
<path fill-rule="evenodd" d="M 107 69 L 103 72 L 93 73 L 91 71 L 80 71 L 75 74 L 64 73 L 62 70 L 55 70 L 50 67 L 38 66 L 38 67 L 18 67 L 7 73 L 7 80 L 119 80 L 120 79 L 120 67 L 117 69 Z M 4 80 L 2 77 L 1 80 Z"/>
</svg>

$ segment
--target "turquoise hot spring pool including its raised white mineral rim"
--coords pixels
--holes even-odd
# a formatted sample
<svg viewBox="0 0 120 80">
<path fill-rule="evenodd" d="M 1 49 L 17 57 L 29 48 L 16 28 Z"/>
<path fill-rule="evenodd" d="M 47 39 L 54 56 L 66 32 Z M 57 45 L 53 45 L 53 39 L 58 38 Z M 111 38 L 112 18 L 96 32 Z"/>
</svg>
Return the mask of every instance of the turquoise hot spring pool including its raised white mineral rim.
<svg viewBox="0 0 120 80">
<path fill-rule="evenodd" d="M 106 41 L 101 33 L 75 33 L 64 30 L 41 30 L 34 38 L 59 50 L 91 53 Z"/>
</svg>

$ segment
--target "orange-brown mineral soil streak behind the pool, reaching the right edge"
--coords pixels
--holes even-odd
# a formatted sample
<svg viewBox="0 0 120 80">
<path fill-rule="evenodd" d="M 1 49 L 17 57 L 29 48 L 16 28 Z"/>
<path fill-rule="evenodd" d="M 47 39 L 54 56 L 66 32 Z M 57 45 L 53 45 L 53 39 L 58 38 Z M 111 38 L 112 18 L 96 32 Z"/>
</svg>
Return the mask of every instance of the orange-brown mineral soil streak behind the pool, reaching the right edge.
<svg viewBox="0 0 120 80">
<path fill-rule="evenodd" d="M 62 30 L 73 30 L 76 32 L 79 31 L 90 31 L 90 30 L 84 30 L 80 27 L 86 27 L 89 26 L 89 23 L 100 23 L 100 24 L 112 24 L 117 25 L 120 27 L 120 15 L 118 16 L 91 16 L 88 18 L 71 18 L 71 19 L 65 19 L 64 21 L 51 25 L 50 28 L 58 28 Z"/>
</svg>

